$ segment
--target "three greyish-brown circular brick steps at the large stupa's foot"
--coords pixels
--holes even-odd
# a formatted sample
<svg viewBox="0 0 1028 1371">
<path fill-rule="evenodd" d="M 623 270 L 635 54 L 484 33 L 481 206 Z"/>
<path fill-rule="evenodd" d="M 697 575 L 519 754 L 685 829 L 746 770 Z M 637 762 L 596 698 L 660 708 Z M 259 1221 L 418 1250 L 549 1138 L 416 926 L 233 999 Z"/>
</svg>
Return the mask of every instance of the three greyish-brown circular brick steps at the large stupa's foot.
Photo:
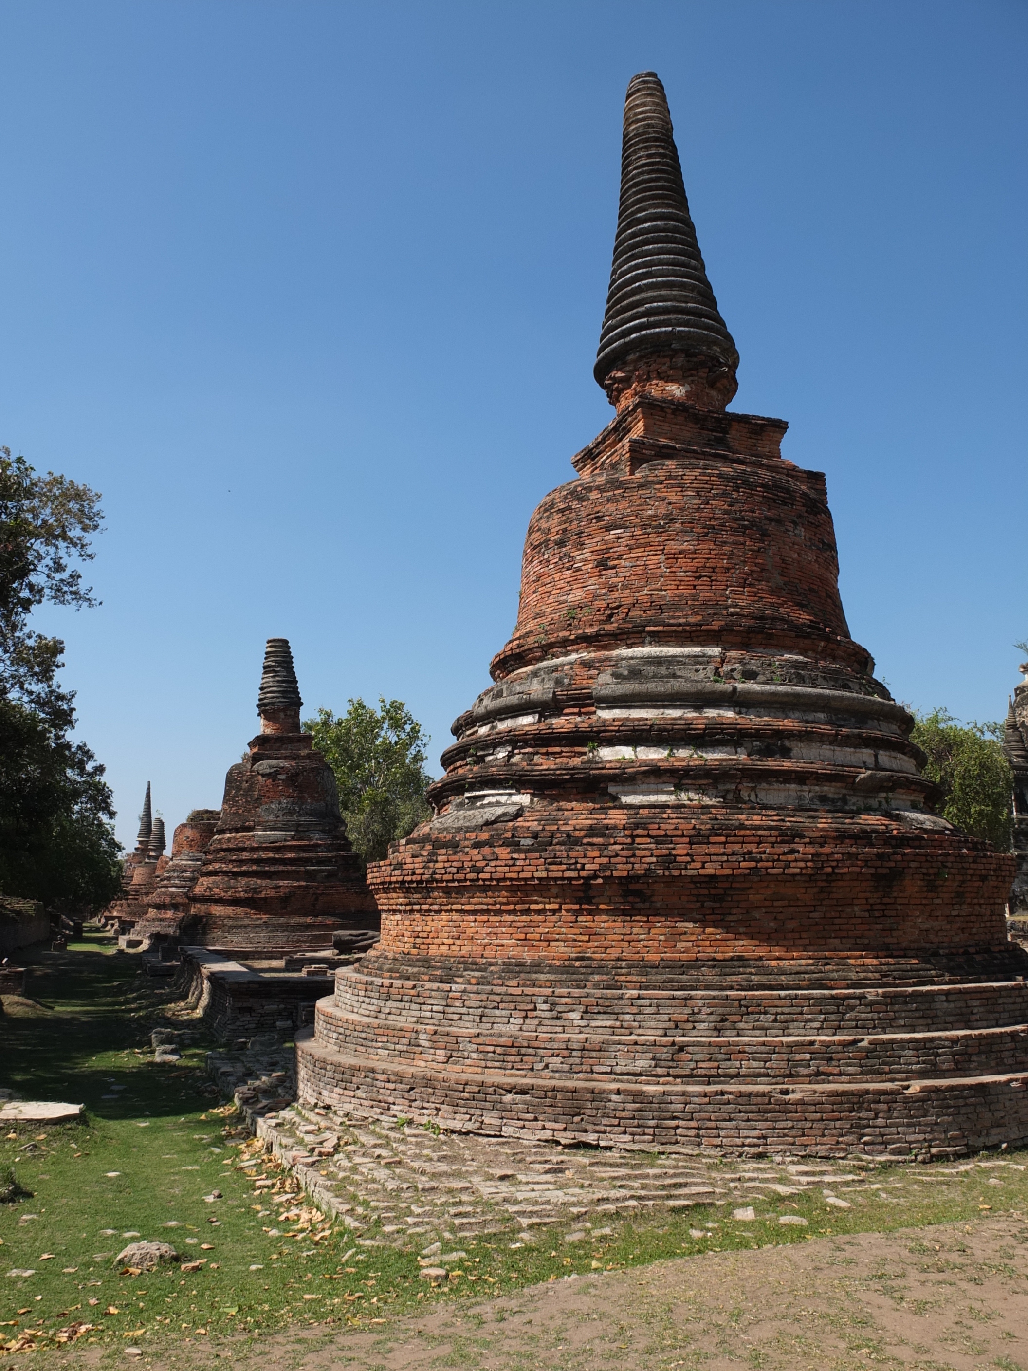
<svg viewBox="0 0 1028 1371">
<path fill-rule="evenodd" d="M 317 1039 L 297 1042 L 302 1100 L 604 1146 L 940 1156 L 1028 1141 L 1028 995 L 992 979 L 1009 968 L 954 982 L 911 964 L 903 983 L 901 968 L 847 982 L 800 965 L 752 988 L 732 967 L 706 983 L 366 968 L 337 976 Z"/>
</svg>

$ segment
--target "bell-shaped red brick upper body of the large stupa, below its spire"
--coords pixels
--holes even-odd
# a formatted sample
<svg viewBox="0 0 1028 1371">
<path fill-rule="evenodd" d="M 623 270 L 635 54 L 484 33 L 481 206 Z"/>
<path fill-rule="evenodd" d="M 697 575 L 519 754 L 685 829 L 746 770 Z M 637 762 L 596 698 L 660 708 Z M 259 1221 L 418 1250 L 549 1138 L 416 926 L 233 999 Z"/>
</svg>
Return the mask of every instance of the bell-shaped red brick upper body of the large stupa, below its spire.
<svg viewBox="0 0 1028 1371">
<path fill-rule="evenodd" d="M 839 599 L 824 477 L 780 458 L 711 450 L 684 406 L 647 410 L 641 448 L 622 439 L 532 515 L 518 622 L 493 676 L 647 640 L 813 646 L 866 669 Z M 735 415 L 735 429 L 744 420 Z M 762 426 L 754 446 L 766 446 Z"/>
</svg>

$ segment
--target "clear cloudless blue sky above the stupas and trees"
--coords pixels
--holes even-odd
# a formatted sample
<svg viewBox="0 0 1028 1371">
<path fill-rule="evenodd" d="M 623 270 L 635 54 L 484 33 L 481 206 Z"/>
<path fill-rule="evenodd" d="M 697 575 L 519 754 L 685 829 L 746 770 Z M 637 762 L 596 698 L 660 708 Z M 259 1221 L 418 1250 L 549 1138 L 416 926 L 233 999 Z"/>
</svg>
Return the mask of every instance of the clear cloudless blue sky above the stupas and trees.
<svg viewBox="0 0 1028 1371">
<path fill-rule="evenodd" d="M 854 638 L 1002 716 L 1028 636 L 1021 0 L 0 3 L 0 443 L 103 492 L 48 611 L 132 842 L 218 805 L 263 642 L 432 733 L 592 380 L 628 78 L 668 89 L 737 410 L 828 473 Z"/>
</svg>

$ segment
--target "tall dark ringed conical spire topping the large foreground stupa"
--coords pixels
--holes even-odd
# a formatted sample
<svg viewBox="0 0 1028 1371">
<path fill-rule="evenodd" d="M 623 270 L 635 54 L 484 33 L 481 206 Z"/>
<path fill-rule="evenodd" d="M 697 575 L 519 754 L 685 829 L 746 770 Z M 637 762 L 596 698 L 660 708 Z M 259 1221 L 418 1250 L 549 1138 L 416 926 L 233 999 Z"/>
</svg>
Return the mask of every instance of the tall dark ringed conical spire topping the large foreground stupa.
<svg viewBox="0 0 1028 1371">
<path fill-rule="evenodd" d="M 618 229 L 593 374 L 604 385 L 631 358 L 674 354 L 726 367 L 735 393 L 739 354 L 703 266 L 668 99 L 657 73 L 640 71 L 625 96 Z"/>
</svg>

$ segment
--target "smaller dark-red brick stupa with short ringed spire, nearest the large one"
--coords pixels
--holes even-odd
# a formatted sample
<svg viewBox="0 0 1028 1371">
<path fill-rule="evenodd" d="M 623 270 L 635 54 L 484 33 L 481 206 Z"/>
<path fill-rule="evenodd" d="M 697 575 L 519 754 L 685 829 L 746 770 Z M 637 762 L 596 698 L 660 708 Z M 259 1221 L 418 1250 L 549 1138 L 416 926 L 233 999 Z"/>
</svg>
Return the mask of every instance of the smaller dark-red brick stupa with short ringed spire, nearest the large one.
<svg viewBox="0 0 1028 1371">
<path fill-rule="evenodd" d="M 326 947 L 377 928 L 339 810 L 336 777 L 300 728 L 300 690 L 285 638 L 270 638 L 258 695 L 260 732 L 229 768 L 214 836 L 182 936 L 237 956 Z"/>
</svg>

